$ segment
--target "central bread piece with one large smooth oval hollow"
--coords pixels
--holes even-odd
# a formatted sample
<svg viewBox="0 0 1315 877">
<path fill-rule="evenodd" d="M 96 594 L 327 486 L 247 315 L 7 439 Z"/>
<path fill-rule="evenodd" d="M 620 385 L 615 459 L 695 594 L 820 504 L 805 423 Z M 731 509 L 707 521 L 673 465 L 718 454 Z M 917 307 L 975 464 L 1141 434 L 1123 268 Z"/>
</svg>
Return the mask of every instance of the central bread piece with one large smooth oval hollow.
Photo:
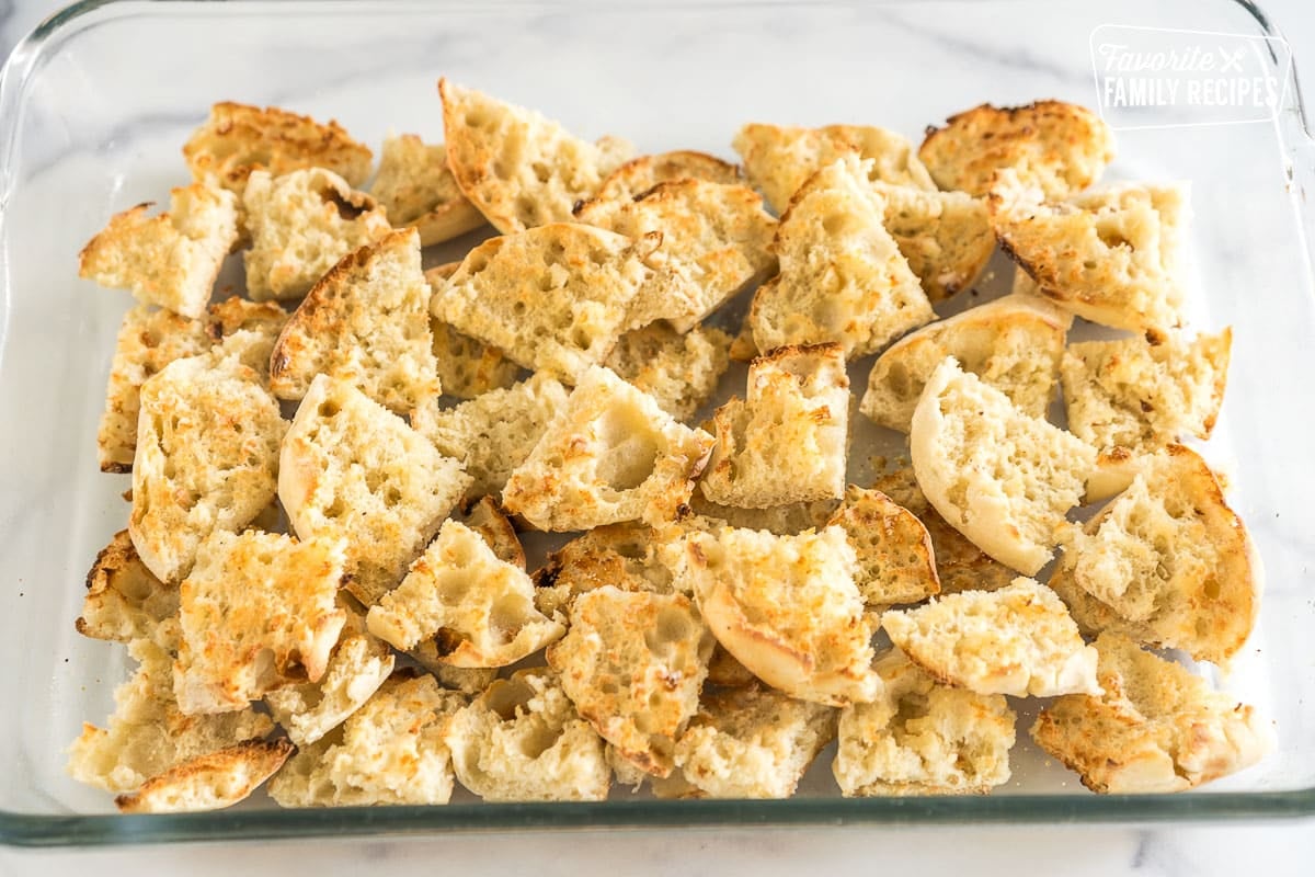
<svg viewBox="0 0 1315 877">
<path fill-rule="evenodd" d="M 682 426 L 651 396 L 593 366 L 512 472 L 502 505 L 554 531 L 671 521 L 711 446 L 711 435 Z"/>
</svg>

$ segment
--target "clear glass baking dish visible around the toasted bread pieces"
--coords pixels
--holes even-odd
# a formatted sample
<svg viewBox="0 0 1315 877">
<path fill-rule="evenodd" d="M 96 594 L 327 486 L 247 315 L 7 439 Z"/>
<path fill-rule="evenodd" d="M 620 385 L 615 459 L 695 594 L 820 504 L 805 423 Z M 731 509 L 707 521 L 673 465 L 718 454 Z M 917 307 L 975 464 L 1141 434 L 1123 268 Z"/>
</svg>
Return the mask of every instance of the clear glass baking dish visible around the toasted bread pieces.
<svg viewBox="0 0 1315 877">
<path fill-rule="evenodd" d="M 435 80 L 535 107 L 642 151 L 732 156 L 743 121 L 877 124 L 915 141 L 982 101 L 1095 105 L 1102 25 L 1272 37 L 1233 0 L 1088 3 L 105 3 L 70 7 L 13 54 L 0 82 L 0 840 L 184 839 L 718 823 L 1176 820 L 1315 813 L 1315 338 L 1307 191 L 1315 147 L 1282 51 L 1273 118 L 1184 126 L 1144 110 L 1118 133 L 1111 176 L 1185 179 L 1195 218 L 1193 317 L 1235 333 L 1208 458 L 1260 548 L 1260 623 L 1222 684 L 1276 719 L 1278 749 L 1191 794 L 1097 797 L 1026 734 L 990 797 L 840 799 L 828 756 L 781 802 L 602 803 L 125 817 L 64 774 L 83 721 L 103 722 L 125 650 L 83 639 L 83 577 L 124 526 L 128 476 L 97 471 L 96 422 L 126 295 L 76 279 L 76 252 L 114 210 L 185 181 L 179 146 L 218 100 L 335 117 L 367 143 L 389 128 L 441 138 Z M 1189 120 L 1190 121 L 1190 120 Z M 994 263 L 1007 284 L 1006 263 Z M 224 280 L 221 279 L 221 284 Z M 864 372 L 865 377 L 865 372 Z M 1030 721 L 1024 714 L 1022 723 Z M 1020 724 L 1022 727 L 1022 724 Z M 830 790 L 828 790 L 830 789 Z"/>
</svg>

